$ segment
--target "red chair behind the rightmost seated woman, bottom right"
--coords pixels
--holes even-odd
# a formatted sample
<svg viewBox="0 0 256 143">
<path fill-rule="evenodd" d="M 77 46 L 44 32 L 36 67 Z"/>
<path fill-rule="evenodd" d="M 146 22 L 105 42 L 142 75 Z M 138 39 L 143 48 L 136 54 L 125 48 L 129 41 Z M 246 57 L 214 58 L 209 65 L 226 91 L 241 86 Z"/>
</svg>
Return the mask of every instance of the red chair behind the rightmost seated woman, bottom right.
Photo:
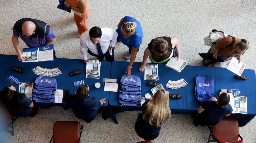
<svg viewBox="0 0 256 143">
<path fill-rule="evenodd" d="M 208 128 L 210 129 L 208 143 L 215 141 L 218 143 L 243 143 L 243 138 L 239 135 L 237 119 L 223 118 L 217 125 L 208 126 Z"/>
</svg>

